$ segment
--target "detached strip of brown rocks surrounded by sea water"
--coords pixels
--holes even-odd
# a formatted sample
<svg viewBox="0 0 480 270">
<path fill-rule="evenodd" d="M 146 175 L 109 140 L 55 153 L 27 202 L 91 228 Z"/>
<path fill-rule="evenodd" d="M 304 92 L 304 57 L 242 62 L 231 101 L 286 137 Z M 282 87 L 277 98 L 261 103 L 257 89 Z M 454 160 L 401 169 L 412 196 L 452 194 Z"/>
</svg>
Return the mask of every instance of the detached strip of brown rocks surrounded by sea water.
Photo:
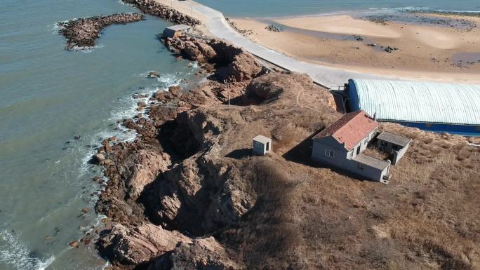
<svg viewBox="0 0 480 270">
<path fill-rule="evenodd" d="M 93 47 L 95 39 L 100 36 L 100 31 L 109 25 L 119 25 L 128 22 L 138 22 L 144 19 L 140 13 L 119 13 L 107 16 L 95 16 L 59 22 L 60 34 L 67 39 L 67 50 L 78 47 Z"/>
</svg>

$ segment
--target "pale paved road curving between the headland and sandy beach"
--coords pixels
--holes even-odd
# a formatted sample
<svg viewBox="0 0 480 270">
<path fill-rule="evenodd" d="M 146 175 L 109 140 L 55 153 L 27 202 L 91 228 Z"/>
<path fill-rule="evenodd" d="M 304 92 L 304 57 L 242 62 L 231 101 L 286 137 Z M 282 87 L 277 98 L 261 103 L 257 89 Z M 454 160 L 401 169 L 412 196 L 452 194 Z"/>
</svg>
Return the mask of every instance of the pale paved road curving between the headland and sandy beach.
<svg viewBox="0 0 480 270">
<path fill-rule="evenodd" d="M 332 67 L 323 67 L 307 62 L 302 62 L 294 58 L 288 57 L 274 50 L 265 48 L 257 43 L 246 39 L 244 36 L 236 32 L 230 27 L 229 22 L 220 11 L 215 11 L 213 8 L 208 8 L 198 4 L 194 1 L 179 2 L 185 3 L 188 9 L 192 5 L 193 13 L 201 14 L 206 17 L 205 25 L 214 36 L 220 39 L 226 39 L 236 46 L 244 47 L 250 53 L 257 55 L 260 58 L 268 60 L 269 62 L 279 65 L 294 72 L 302 72 L 309 74 L 312 79 L 323 86 L 343 86 L 348 79 L 387 79 L 385 77 L 375 76 L 372 74 L 364 74 L 359 72 L 349 72 L 343 69 L 335 69 Z M 188 3 L 188 4 L 187 4 Z M 389 78 L 392 79 L 392 78 Z"/>
</svg>

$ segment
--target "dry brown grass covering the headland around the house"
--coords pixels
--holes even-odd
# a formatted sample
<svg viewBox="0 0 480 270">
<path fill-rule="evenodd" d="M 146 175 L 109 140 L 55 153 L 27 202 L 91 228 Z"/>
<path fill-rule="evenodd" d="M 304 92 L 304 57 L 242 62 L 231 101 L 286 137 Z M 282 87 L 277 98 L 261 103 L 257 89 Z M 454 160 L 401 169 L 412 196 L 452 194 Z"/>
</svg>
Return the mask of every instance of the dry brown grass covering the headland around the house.
<svg viewBox="0 0 480 270">
<path fill-rule="evenodd" d="M 293 88 L 295 89 L 295 88 Z M 215 109 L 221 155 L 274 139 L 274 153 L 241 160 L 258 201 L 215 237 L 248 269 L 480 269 L 480 149 L 462 136 L 392 123 L 413 142 L 388 185 L 309 162 L 309 137 L 340 114 L 321 90 L 267 104 Z M 314 107 L 314 109 L 310 108 Z"/>
</svg>

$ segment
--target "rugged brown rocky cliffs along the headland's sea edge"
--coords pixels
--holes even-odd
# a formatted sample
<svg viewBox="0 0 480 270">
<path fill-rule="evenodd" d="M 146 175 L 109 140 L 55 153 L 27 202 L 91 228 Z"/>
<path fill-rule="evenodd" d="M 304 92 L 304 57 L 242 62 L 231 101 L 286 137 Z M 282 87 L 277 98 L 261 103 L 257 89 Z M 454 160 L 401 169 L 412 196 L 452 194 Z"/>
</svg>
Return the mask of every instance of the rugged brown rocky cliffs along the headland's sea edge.
<svg viewBox="0 0 480 270">
<path fill-rule="evenodd" d="M 150 97 L 149 119 L 124 120 L 138 131 L 134 142 L 102 142 L 93 156 L 109 178 L 95 207 L 107 216 L 98 250 L 113 269 L 241 269 L 208 234 L 238 220 L 254 198 L 221 192 L 235 168 L 213 158 L 223 124 L 201 108 L 221 105 L 227 91 L 243 95 L 262 67 L 225 41 L 181 36 L 165 43 L 211 76 L 190 92 L 171 87 Z"/>
</svg>

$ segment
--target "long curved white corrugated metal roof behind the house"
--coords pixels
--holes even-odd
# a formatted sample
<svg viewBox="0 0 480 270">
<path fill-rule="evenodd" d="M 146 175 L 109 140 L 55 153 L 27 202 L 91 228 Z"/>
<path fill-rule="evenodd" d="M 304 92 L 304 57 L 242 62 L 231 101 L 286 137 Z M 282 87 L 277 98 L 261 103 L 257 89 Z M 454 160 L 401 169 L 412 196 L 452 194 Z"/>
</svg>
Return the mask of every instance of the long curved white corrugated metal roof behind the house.
<svg viewBox="0 0 480 270">
<path fill-rule="evenodd" d="M 480 125 L 480 85 L 351 79 L 349 97 L 379 120 Z"/>
</svg>

